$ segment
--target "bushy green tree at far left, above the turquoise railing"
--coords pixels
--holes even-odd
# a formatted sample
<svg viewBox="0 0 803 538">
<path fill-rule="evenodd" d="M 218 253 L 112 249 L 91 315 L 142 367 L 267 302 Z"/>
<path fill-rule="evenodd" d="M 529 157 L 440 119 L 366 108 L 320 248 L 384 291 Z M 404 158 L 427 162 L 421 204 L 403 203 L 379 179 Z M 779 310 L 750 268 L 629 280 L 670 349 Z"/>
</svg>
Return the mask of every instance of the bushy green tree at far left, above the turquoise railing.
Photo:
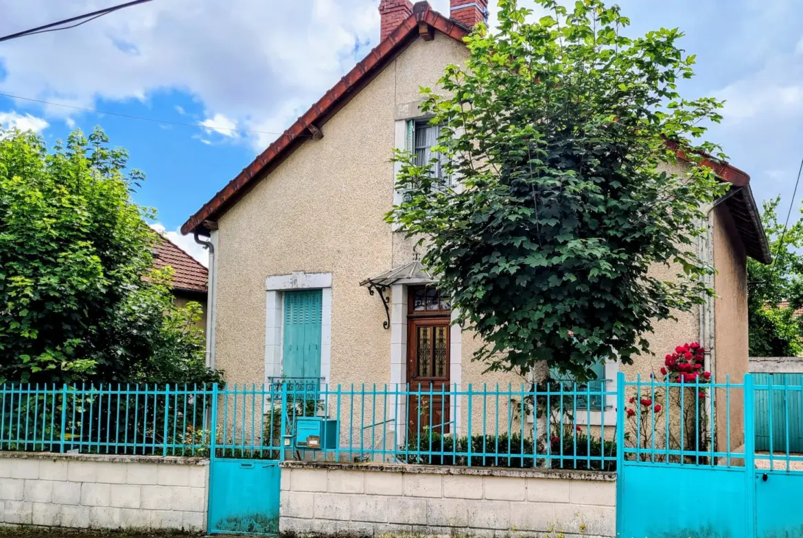
<svg viewBox="0 0 803 538">
<path fill-rule="evenodd" d="M 218 378 L 197 307 L 177 309 L 169 271 L 151 273 L 154 213 L 131 199 L 144 175 L 127 161 L 100 127 L 52 152 L 0 131 L 0 383 Z"/>
</svg>

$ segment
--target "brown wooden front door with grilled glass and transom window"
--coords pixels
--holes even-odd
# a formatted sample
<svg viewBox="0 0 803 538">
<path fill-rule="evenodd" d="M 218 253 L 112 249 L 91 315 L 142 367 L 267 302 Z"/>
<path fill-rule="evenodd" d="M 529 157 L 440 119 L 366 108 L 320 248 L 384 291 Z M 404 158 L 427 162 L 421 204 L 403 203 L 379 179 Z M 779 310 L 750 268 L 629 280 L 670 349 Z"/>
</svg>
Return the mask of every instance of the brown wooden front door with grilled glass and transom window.
<svg viewBox="0 0 803 538">
<path fill-rule="evenodd" d="M 407 379 L 410 435 L 426 429 L 450 431 L 450 305 L 433 288 L 410 289 L 407 316 Z M 431 395 L 430 395 L 431 394 Z"/>
</svg>

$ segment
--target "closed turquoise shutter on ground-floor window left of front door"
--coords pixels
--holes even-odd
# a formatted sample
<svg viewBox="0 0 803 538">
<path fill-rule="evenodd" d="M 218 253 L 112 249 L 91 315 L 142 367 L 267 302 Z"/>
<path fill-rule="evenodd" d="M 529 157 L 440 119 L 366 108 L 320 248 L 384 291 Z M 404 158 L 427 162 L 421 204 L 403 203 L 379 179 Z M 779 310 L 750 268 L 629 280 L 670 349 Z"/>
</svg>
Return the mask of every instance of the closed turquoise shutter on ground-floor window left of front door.
<svg viewBox="0 0 803 538">
<path fill-rule="evenodd" d="M 320 378 L 320 289 L 284 293 L 283 376 Z"/>
</svg>

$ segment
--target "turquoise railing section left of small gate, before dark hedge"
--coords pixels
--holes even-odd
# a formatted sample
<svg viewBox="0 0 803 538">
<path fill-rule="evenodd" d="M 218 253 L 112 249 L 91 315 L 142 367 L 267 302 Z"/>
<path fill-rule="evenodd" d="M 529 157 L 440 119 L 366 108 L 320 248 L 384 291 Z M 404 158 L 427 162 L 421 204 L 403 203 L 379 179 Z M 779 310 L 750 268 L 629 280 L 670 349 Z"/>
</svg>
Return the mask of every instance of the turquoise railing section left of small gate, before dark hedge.
<svg viewBox="0 0 803 538">
<path fill-rule="evenodd" d="M 0 387 L 0 450 L 208 455 L 214 388 Z"/>
</svg>

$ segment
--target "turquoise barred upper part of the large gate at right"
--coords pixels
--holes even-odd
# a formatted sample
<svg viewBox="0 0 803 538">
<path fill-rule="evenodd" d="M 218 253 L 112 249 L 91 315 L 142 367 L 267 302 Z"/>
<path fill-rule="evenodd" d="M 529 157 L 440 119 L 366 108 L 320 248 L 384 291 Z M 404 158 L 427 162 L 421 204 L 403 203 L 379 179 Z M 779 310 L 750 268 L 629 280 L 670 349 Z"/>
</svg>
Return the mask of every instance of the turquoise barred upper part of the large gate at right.
<svg viewBox="0 0 803 538">
<path fill-rule="evenodd" d="M 741 383 L 728 375 L 724 383 L 619 375 L 626 462 L 803 471 L 803 383 L 756 383 L 754 374 Z"/>
</svg>

